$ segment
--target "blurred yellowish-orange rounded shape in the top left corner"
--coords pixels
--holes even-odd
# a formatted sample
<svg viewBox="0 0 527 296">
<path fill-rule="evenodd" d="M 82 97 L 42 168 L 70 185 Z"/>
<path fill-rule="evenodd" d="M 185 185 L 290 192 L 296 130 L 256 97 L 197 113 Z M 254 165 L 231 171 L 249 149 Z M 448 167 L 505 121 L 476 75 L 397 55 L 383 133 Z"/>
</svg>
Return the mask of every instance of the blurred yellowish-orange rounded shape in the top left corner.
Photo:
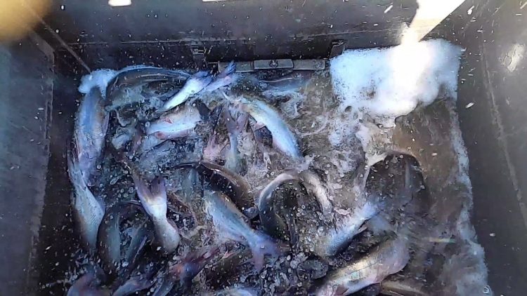
<svg viewBox="0 0 527 296">
<path fill-rule="evenodd" d="M 48 13 L 51 0 L 0 0 L 0 41 L 24 38 Z"/>
</svg>

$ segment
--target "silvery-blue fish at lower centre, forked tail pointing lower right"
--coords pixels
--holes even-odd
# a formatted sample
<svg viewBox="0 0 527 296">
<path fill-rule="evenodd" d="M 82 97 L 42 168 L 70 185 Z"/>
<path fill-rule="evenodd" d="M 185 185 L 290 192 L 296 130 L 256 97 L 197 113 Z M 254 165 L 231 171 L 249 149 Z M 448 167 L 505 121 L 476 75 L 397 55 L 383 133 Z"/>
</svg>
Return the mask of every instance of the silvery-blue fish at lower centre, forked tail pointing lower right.
<svg viewBox="0 0 527 296">
<path fill-rule="evenodd" d="M 228 199 L 225 194 L 216 191 L 204 191 L 204 206 L 212 218 L 218 236 L 225 240 L 247 243 L 252 251 L 254 267 L 263 267 L 265 255 L 278 255 L 278 246 L 266 234 L 251 228 L 247 217 Z"/>
</svg>

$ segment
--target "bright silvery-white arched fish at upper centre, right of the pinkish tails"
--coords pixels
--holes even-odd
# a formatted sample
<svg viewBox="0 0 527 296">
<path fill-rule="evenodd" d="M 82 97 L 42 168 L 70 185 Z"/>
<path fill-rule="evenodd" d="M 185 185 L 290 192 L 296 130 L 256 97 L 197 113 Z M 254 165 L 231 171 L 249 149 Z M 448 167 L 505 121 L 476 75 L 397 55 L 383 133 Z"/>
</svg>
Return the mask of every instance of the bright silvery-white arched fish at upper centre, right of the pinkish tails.
<svg viewBox="0 0 527 296">
<path fill-rule="evenodd" d="M 278 111 L 261 100 L 252 97 L 240 97 L 242 110 L 268 128 L 273 135 L 273 146 L 293 159 L 303 159 L 296 137 Z"/>
</svg>

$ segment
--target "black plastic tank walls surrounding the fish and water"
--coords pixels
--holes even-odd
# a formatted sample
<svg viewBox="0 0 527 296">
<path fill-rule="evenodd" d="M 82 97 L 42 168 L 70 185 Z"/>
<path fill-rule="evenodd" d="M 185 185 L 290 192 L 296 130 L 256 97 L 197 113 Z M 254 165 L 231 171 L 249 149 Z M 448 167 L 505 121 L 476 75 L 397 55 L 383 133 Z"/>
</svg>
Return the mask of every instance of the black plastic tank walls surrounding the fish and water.
<svg viewBox="0 0 527 296">
<path fill-rule="evenodd" d="M 13 13 L 34 22 L 0 45 L 0 295 L 55 295 L 69 284 L 57 279 L 78 243 L 65 154 L 82 75 L 135 64 L 323 60 L 398 45 L 408 27 L 464 48 L 457 112 L 471 222 L 494 294 L 526 294 L 526 1 L 56 0 L 44 1 L 47 14 L 18 2 Z"/>
</svg>

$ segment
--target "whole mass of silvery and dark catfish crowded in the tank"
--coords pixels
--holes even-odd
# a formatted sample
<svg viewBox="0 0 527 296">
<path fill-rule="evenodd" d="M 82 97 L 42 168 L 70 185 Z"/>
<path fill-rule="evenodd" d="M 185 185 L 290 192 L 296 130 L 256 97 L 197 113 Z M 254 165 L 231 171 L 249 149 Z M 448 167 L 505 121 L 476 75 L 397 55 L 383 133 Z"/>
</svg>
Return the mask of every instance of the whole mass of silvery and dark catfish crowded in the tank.
<svg viewBox="0 0 527 296">
<path fill-rule="evenodd" d="M 68 295 L 427 295 L 391 276 L 421 224 L 417 161 L 360 165 L 334 195 L 277 107 L 313 75 L 129 67 L 93 86 L 67 155 L 93 264 Z M 129 199 L 101 197 L 119 182 Z"/>
</svg>

